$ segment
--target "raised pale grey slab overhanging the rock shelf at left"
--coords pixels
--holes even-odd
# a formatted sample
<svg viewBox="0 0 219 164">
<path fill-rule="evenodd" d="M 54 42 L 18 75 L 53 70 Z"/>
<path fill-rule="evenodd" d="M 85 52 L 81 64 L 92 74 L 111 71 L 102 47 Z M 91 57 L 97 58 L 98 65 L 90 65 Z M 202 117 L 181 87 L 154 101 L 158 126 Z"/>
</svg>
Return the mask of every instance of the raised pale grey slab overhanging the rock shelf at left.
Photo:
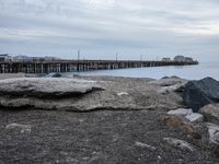
<svg viewBox="0 0 219 164">
<path fill-rule="evenodd" d="M 102 90 L 93 81 L 76 79 L 21 78 L 0 81 L 0 95 L 61 97 L 81 95 L 94 90 Z"/>
</svg>

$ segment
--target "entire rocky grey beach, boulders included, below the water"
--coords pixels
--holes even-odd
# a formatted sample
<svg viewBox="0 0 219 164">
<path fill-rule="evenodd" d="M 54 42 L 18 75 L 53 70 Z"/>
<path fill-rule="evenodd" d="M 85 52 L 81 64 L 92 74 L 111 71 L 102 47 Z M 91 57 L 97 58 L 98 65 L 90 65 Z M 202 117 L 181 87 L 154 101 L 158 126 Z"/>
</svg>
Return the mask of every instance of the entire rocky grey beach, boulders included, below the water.
<svg viewBox="0 0 219 164">
<path fill-rule="evenodd" d="M 219 163 L 211 78 L 0 78 L 0 163 Z"/>
</svg>

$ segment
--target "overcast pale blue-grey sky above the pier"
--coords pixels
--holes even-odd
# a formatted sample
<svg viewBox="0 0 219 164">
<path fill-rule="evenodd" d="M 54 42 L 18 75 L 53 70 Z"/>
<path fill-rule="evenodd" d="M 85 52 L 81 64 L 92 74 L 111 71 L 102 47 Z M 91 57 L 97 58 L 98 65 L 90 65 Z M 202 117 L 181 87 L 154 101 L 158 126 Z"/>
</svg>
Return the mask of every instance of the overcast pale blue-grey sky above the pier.
<svg viewBox="0 0 219 164">
<path fill-rule="evenodd" d="M 0 0 L 0 54 L 219 60 L 218 0 Z"/>
</svg>

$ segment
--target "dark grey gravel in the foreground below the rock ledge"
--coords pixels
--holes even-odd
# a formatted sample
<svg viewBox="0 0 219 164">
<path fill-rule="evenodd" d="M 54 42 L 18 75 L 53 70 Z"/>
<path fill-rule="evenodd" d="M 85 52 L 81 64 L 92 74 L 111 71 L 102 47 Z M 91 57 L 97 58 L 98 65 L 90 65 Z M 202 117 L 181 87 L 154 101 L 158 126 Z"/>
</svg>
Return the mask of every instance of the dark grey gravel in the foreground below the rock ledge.
<svg viewBox="0 0 219 164">
<path fill-rule="evenodd" d="M 163 112 L 70 113 L 0 110 L 0 163 L 218 163 L 210 151 L 178 130 L 166 128 Z M 7 130 L 31 125 L 31 132 Z M 169 145 L 163 138 L 187 141 L 194 152 Z M 155 149 L 140 147 L 149 144 Z M 199 142 L 199 141 L 197 141 Z"/>
</svg>

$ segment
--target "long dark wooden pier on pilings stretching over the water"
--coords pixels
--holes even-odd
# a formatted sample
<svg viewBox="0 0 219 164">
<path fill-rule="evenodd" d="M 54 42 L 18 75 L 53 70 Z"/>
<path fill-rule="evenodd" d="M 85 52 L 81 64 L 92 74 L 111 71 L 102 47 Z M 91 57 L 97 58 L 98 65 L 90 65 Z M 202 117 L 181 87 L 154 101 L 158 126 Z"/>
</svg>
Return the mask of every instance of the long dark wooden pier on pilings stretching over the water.
<svg viewBox="0 0 219 164">
<path fill-rule="evenodd" d="M 137 60 L 54 60 L 13 62 L 1 61 L 0 73 L 51 73 L 78 72 L 91 70 L 113 70 L 141 67 L 188 66 L 198 65 L 197 61 L 137 61 Z"/>
</svg>

